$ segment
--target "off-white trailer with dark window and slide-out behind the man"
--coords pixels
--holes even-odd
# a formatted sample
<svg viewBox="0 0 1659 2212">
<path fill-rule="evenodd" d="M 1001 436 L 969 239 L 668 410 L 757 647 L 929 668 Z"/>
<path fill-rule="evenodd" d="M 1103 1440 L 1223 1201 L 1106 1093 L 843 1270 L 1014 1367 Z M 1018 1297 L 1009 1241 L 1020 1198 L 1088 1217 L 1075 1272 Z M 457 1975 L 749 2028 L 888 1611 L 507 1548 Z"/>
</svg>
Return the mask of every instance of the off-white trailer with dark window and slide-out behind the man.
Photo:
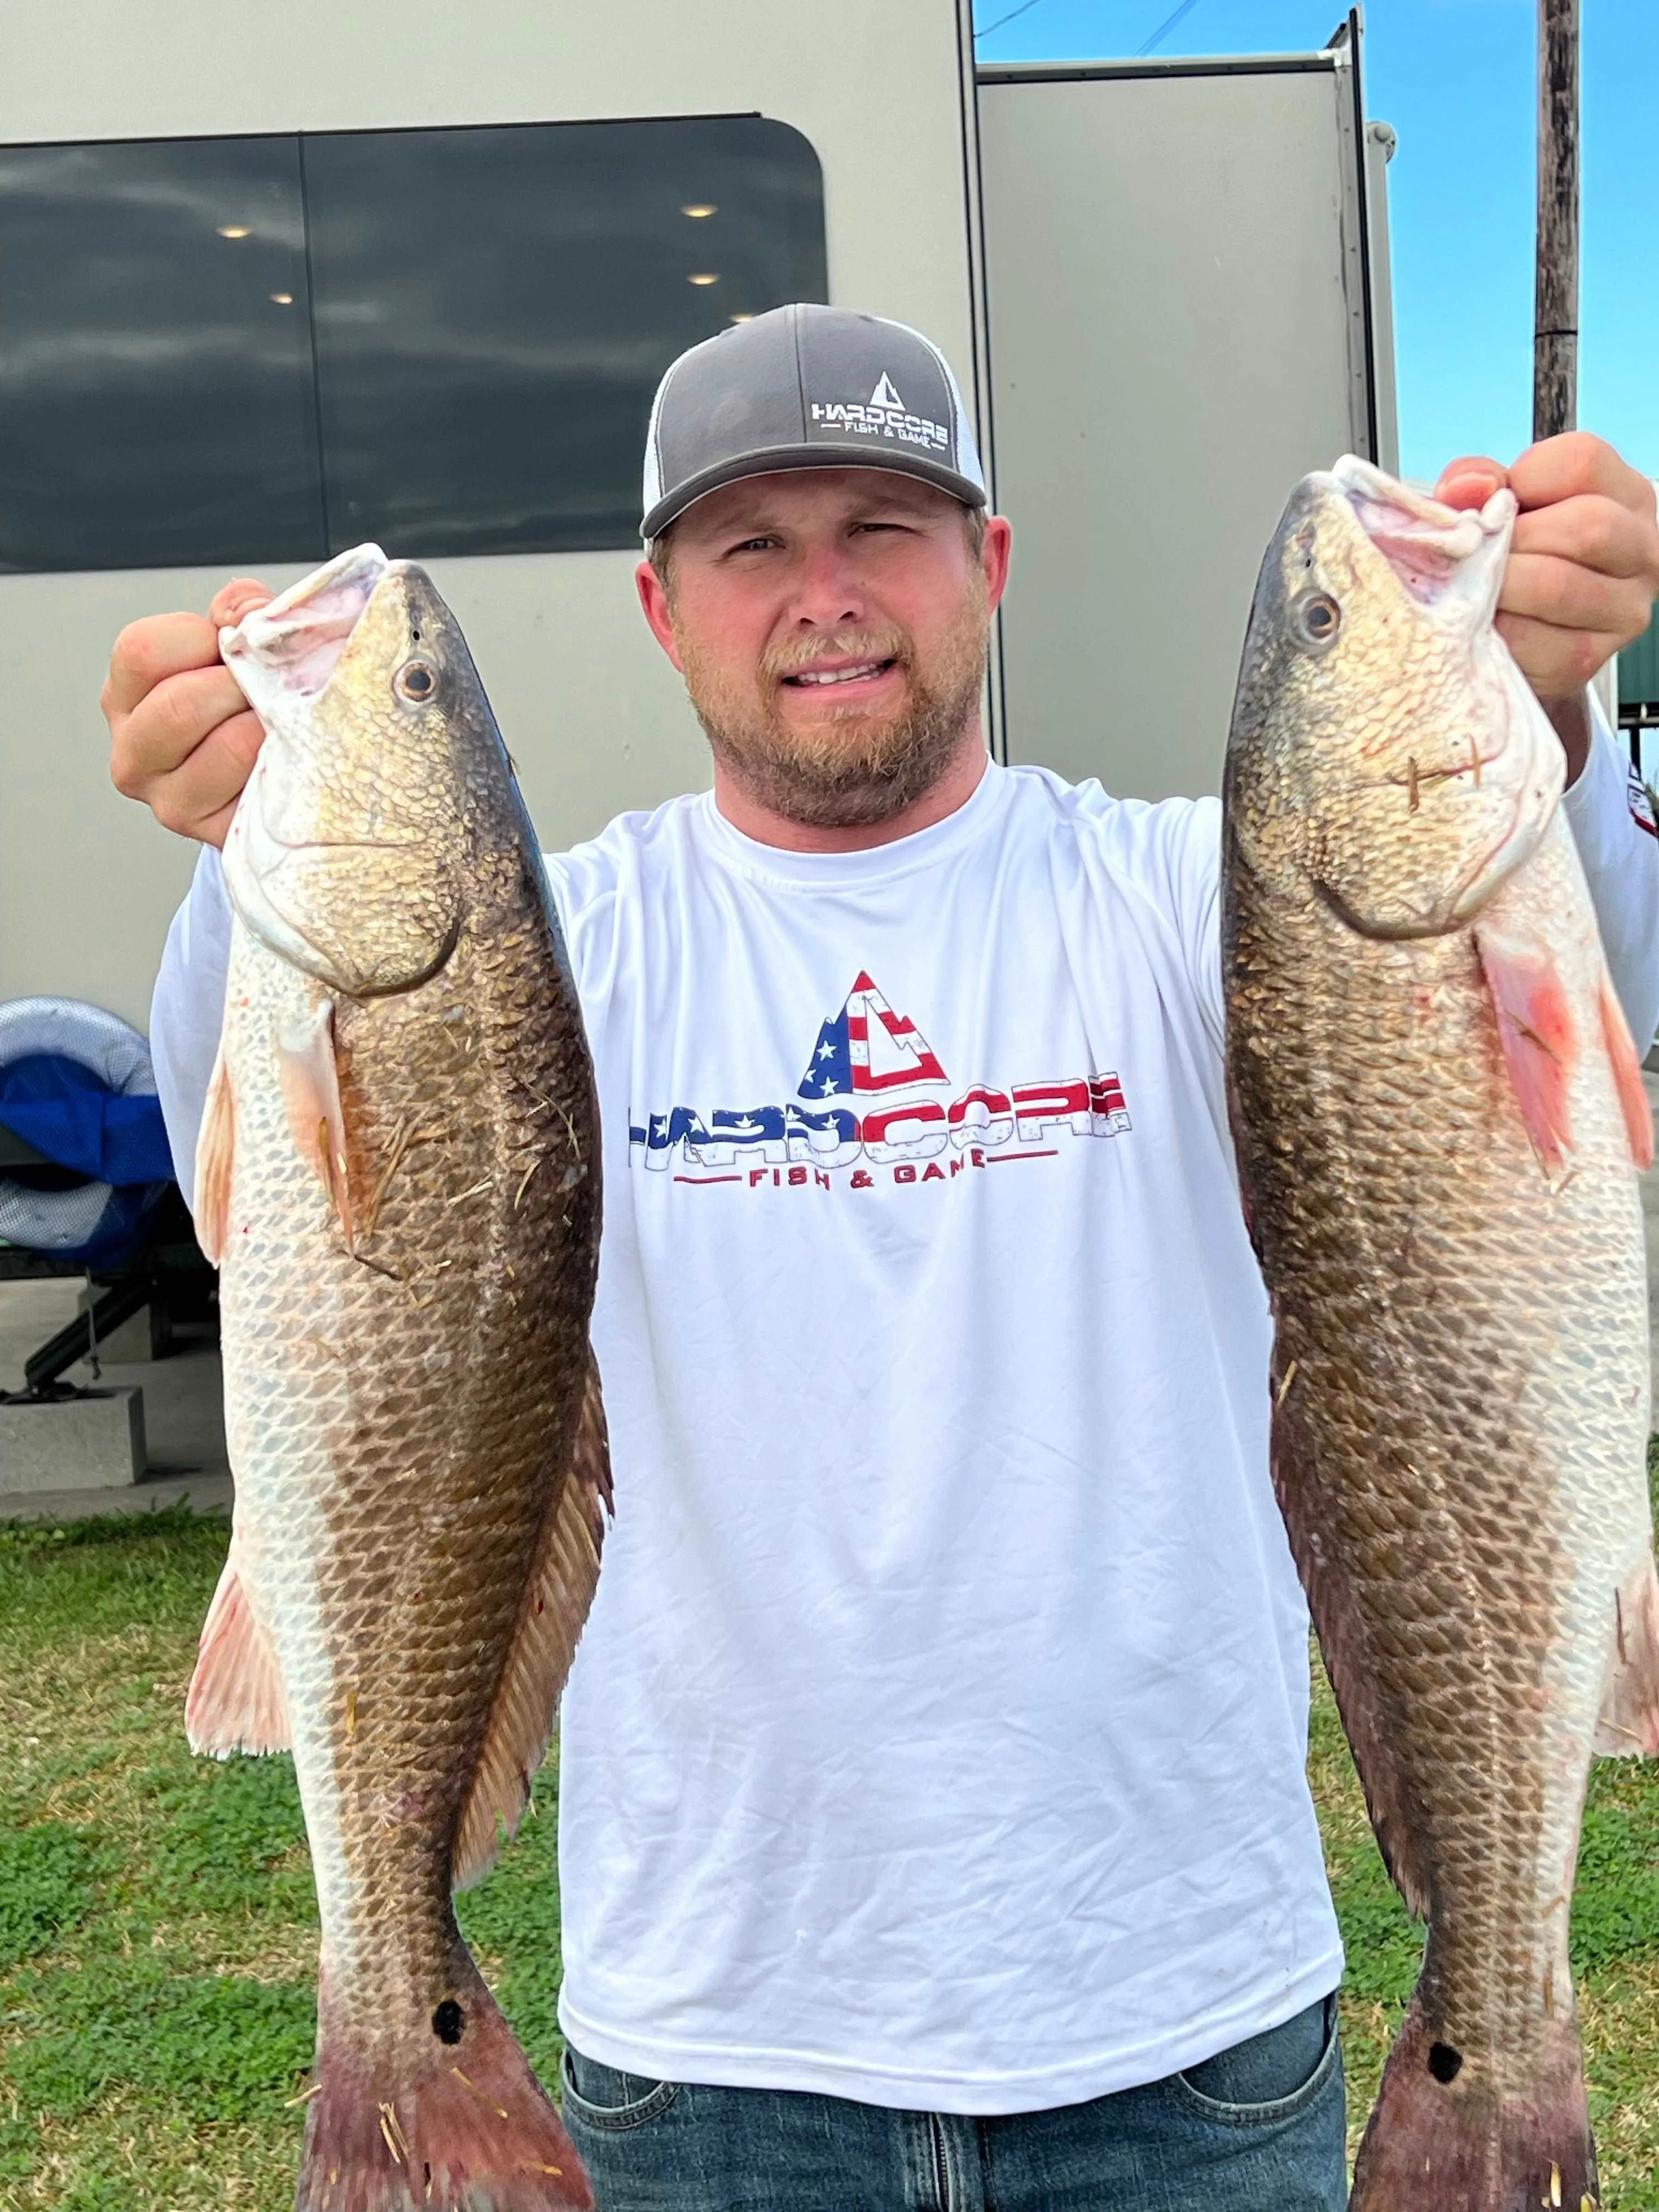
<svg viewBox="0 0 1659 2212">
<path fill-rule="evenodd" d="M 1321 53 L 975 69 L 969 0 L 88 0 L 0 75 L 0 1000 L 144 1024 L 192 849 L 124 622 L 429 560 L 542 838 L 708 781 L 637 615 L 672 352 L 787 296 L 956 361 L 1015 566 L 1000 757 L 1214 790 L 1292 480 L 1394 460 L 1383 153 Z"/>
</svg>

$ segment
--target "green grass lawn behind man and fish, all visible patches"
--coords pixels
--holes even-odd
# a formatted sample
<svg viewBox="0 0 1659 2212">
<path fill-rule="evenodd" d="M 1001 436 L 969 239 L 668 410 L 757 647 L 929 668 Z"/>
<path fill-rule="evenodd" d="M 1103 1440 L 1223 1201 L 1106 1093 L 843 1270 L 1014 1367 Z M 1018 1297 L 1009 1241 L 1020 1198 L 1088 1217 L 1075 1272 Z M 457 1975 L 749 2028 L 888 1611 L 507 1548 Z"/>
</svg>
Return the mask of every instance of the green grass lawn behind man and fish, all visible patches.
<svg viewBox="0 0 1659 2212">
<path fill-rule="evenodd" d="M 285 1759 L 190 1759 L 181 1705 L 228 1524 L 0 1528 L 0 2208 L 288 2212 L 316 1920 Z M 1312 1776 L 1349 1947 L 1363 2121 L 1418 1938 L 1323 1681 Z M 555 1776 L 462 1924 L 544 2079 Z M 1659 1767 L 1590 1785 L 1573 1949 L 1608 2212 L 1659 2212 Z M 1358 2128 L 1356 2128 L 1358 2135 Z"/>
</svg>

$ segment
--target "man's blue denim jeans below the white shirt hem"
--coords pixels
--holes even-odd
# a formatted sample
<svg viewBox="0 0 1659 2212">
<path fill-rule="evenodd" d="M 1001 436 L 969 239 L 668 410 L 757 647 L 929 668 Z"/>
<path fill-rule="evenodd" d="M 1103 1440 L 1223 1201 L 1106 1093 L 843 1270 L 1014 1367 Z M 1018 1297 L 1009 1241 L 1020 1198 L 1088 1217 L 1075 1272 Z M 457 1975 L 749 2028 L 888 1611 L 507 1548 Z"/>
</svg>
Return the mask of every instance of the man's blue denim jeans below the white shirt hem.
<svg viewBox="0 0 1659 2212">
<path fill-rule="evenodd" d="M 1336 1997 L 1186 2073 L 967 2119 L 564 2057 L 599 2212 L 1343 2212 Z"/>
</svg>

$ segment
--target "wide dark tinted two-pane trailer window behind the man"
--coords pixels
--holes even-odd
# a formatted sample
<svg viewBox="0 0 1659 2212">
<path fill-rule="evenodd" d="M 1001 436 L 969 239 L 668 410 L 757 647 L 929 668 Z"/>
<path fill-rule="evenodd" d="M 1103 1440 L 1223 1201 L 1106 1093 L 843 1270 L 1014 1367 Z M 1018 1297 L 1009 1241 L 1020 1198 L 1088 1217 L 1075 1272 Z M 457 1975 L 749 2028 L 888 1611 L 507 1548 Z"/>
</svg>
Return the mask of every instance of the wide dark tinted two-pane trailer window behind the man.
<svg viewBox="0 0 1659 2212">
<path fill-rule="evenodd" d="M 0 148 L 0 568 L 637 544 L 675 354 L 825 296 L 759 115 Z"/>
</svg>

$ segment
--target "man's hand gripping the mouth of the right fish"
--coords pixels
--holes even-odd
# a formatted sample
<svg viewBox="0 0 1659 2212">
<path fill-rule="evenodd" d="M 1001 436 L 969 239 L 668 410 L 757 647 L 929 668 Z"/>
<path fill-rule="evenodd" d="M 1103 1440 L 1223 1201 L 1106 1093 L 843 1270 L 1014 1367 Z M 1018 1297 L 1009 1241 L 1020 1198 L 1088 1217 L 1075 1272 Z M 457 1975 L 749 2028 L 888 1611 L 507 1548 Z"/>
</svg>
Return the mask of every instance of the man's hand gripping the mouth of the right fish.
<svg viewBox="0 0 1659 2212">
<path fill-rule="evenodd" d="M 1575 429 L 1528 445 L 1509 469 L 1486 456 L 1453 460 L 1436 498 L 1484 507 L 1502 484 L 1520 515 L 1498 630 L 1562 732 L 1575 776 L 1590 739 L 1584 686 L 1641 637 L 1659 591 L 1655 487 L 1604 438 Z"/>
</svg>

